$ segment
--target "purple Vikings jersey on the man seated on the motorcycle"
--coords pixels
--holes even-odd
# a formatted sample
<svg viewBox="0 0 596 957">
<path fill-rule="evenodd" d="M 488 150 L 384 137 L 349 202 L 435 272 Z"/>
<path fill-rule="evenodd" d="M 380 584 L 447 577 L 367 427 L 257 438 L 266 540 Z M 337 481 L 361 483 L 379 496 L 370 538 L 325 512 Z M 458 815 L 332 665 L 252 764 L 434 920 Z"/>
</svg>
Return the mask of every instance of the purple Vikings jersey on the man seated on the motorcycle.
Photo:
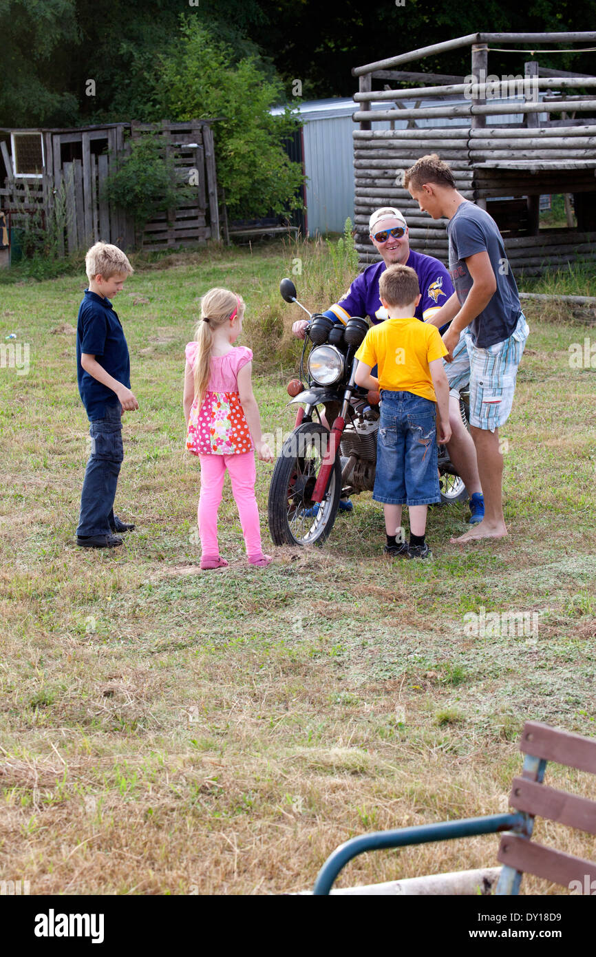
<svg viewBox="0 0 596 957">
<path fill-rule="evenodd" d="M 453 282 L 443 263 L 434 256 L 425 256 L 410 250 L 406 265 L 416 273 L 422 293 L 414 315 L 421 322 L 426 322 L 432 313 L 453 296 Z M 346 323 L 350 316 L 369 316 L 371 323 L 383 323 L 387 312 L 379 298 L 379 279 L 385 270 L 386 264 L 383 260 L 367 266 L 364 272 L 354 279 L 345 296 L 330 306 L 323 315 L 329 316 L 334 322 L 340 320 Z M 449 323 L 439 331 L 443 332 L 448 325 Z"/>
</svg>

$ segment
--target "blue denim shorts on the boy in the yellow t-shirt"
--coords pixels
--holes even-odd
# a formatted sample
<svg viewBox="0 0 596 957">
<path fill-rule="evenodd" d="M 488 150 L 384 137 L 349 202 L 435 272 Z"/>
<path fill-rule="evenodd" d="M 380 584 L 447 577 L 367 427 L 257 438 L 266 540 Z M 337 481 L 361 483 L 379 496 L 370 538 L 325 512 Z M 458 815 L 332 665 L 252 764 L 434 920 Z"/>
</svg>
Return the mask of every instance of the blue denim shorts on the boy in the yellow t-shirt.
<svg viewBox="0 0 596 957">
<path fill-rule="evenodd" d="M 435 403 L 383 389 L 373 499 L 392 505 L 441 501 L 436 459 Z"/>
</svg>

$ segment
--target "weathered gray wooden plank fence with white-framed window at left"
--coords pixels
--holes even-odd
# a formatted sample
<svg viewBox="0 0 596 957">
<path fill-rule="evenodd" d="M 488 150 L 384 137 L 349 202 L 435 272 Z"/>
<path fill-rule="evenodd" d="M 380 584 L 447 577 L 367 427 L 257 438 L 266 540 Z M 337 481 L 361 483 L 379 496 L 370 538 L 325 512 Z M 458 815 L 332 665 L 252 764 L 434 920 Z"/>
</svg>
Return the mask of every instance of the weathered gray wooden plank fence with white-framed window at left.
<svg viewBox="0 0 596 957">
<path fill-rule="evenodd" d="M 112 123 L 70 130 L 40 132 L 45 163 L 38 179 L 14 176 L 8 145 L 0 143 L 7 170 L 0 189 L 2 209 L 14 225 L 24 226 L 36 214 L 55 224 L 61 253 L 83 250 L 98 239 L 122 249 L 166 249 L 219 239 L 219 212 L 213 134 L 209 122 Z M 174 158 L 181 181 L 196 194 L 175 209 L 156 215 L 142 233 L 131 217 L 109 203 L 105 185 L 130 149 L 130 139 L 155 133 Z M 128 139 L 127 134 L 130 134 Z"/>
</svg>

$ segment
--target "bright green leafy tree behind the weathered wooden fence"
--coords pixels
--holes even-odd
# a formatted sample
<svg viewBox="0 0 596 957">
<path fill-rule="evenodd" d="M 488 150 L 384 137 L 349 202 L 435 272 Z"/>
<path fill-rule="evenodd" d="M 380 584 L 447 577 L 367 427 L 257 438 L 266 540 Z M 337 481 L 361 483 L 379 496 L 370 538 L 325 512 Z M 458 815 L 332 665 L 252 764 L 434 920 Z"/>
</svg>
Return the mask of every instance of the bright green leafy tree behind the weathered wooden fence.
<svg viewBox="0 0 596 957">
<path fill-rule="evenodd" d="M 182 25 L 182 42 L 156 66 L 155 119 L 216 119 L 217 180 L 232 218 L 276 213 L 300 205 L 302 172 L 282 145 L 297 121 L 274 117 L 282 99 L 252 56 L 234 63 L 233 51 L 196 20 Z"/>
</svg>

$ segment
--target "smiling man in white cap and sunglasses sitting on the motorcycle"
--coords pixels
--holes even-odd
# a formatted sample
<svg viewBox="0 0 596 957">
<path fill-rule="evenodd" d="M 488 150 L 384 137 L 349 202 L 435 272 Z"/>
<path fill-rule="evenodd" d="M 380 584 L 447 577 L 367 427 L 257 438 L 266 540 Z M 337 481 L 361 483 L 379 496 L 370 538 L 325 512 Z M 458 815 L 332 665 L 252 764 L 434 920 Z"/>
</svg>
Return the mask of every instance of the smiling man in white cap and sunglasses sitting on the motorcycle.
<svg viewBox="0 0 596 957">
<path fill-rule="evenodd" d="M 351 316 L 368 316 L 371 323 L 383 323 L 387 318 L 386 308 L 379 296 L 379 279 L 388 266 L 395 263 L 409 266 L 418 277 L 422 297 L 416 306 L 415 316 L 421 322 L 428 323 L 444 302 L 453 295 L 453 283 L 446 267 L 434 256 L 415 253 L 409 248 L 408 224 L 399 210 L 394 207 L 381 207 L 375 210 L 368 220 L 368 231 L 381 262 L 367 266 L 364 272 L 352 282 L 342 300 L 335 302 L 323 316 L 335 323 L 346 323 Z M 308 320 L 298 320 L 292 326 L 292 332 L 298 339 L 304 339 Z M 443 334 L 449 323 L 439 329 Z M 457 474 L 463 480 L 470 495 L 470 523 L 481 522 L 484 516 L 484 499 L 478 476 L 475 444 L 464 426 L 459 410 L 459 389 L 464 389 L 470 381 L 470 360 L 462 336 L 453 351 L 453 362 L 446 364 L 445 371 L 450 385 L 450 426 L 452 438 L 447 448 Z M 351 511 L 352 502 L 340 501 L 343 511 Z"/>
</svg>

